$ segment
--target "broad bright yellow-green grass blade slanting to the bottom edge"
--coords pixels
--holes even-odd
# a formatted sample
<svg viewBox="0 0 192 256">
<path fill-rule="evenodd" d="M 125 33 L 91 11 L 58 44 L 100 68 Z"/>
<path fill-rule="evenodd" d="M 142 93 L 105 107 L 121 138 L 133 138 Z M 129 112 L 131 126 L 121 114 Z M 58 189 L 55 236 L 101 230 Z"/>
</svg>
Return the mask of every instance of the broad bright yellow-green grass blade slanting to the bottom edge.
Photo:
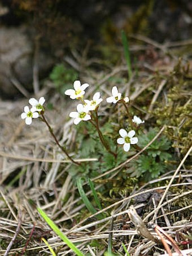
<svg viewBox="0 0 192 256">
<path fill-rule="evenodd" d="M 78 256 L 85 256 L 83 253 L 81 253 L 80 250 L 78 250 L 78 248 L 76 248 L 76 246 L 67 238 L 67 236 L 64 235 L 62 231 L 60 231 L 58 226 L 55 225 L 55 223 L 46 215 L 46 213 L 40 207 L 37 207 L 37 210 L 41 214 L 42 218 L 46 221 L 46 223 L 53 229 L 53 231 L 55 231 L 56 235 L 58 235 L 63 240 L 63 242 L 65 242 L 66 245 L 68 245 L 69 248 L 74 251 L 74 253 L 76 253 Z"/>
</svg>

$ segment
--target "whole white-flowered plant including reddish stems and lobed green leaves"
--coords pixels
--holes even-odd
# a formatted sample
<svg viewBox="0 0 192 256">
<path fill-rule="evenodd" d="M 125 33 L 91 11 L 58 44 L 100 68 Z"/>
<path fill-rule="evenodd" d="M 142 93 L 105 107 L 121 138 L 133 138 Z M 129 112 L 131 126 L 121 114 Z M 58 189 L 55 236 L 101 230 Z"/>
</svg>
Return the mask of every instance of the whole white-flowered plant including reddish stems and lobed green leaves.
<svg viewBox="0 0 192 256">
<path fill-rule="evenodd" d="M 125 115 L 128 118 L 129 127 L 119 127 L 119 136 L 115 134 L 117 127 L 110 122 L 102 125 L 101 116 L 99 115 L 99 106 L 103 98 L 101 93 L 96 92 L 92 99 L 85 98 L 85 90 L 89 84 L 81 84 L 76 80 L 73 84 L 73 89 L 68 89 L 64 93 L 71 99 L 76 99 L 81 103 L 76 106 L 76 111 L 69 113 L 69 117 L 73 119 L 73 123 L 78 125 L 77 128 L 77 148 L 76 153 L 80 157 L 98 158 L 97 162 L 93 163 L 80 163 L 78 160 L 73 160 L 66 146 L 60 145 L 56 138 L 53 129 L 45 118 L 45 98 L 41 97 L 38 101 L 34 98 L 29 99 L 32 106 L 24 107 L 24 112 L 21 118 L 25 119 L 25 123 L 30 125 L 33 118 L 40 118 L 48 127 L 51 136 L 53 136 L 56 144 L 60 147 L 64 154 L 75 164 L 69 168 L 69 172 L 73 177 L 89 176 L 94 177 L 98 172 L 104 172 L 110 168 L 114 168 L 121 162 L 124 162 L 134 151 L 139 151 L 145 147 L 155 134 L 158 132 L 156 129 L 150 129 L 148 133 L 143 133 L 139 126 L 145 123 L 138 116 L 130 114 L 130 100 L 129 97 L 122 97 L 121 93 L 116 86 L 112 88 L 112 96 L 106 98 L 107 103 L 122 104 L 125 109 Z M 83 131 L 83 132 L 82 132 Z M 89 134 L 89 136 L 88 136 Z M 115 134 L 115 136 L 114 136 Z M 118 147 L 121 145 L 122 147 Z M 129 153 L 132 148 L 133 153 Z M 141 177 L 143 180 L 151 180 L 158 177 L 167 168 L 167 162 L 171 158 L 168 150 L 171 148 L 171 142 L 168 141 L 166 136 L 162 136 L 159 140 L 154 141 L 145 151 L 145 154 L 129 164 L 129 169 L 126 173 L 131 173 L 131 176 Z M 123 150 L 122 150 L 123 149 Z M 125 154 L 128 153 L 128 155 Z M 76 165 L 79 168 L 76 168 Z M 147 175 L 146 175 L 147 173 Z"/>
</svg>

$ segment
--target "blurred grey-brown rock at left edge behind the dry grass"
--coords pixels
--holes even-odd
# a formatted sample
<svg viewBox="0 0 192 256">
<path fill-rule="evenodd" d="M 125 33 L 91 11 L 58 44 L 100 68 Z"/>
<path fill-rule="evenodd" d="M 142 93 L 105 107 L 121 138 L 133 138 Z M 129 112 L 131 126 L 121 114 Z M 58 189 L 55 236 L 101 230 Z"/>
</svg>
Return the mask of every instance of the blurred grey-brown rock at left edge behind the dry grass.
<svg viewBox="0 0 192 256">
<path fill-rule="evenodd" d="M 12 78 L 24 89 L 33 90 L 33 40 L 27 27 L 1 27 L 0 29 L 0 96 L 12 98 L 20 94 Z M 41 51 L 38 54 L 39 73 L 50 70 L 53 61 Z"/>
</svg>

